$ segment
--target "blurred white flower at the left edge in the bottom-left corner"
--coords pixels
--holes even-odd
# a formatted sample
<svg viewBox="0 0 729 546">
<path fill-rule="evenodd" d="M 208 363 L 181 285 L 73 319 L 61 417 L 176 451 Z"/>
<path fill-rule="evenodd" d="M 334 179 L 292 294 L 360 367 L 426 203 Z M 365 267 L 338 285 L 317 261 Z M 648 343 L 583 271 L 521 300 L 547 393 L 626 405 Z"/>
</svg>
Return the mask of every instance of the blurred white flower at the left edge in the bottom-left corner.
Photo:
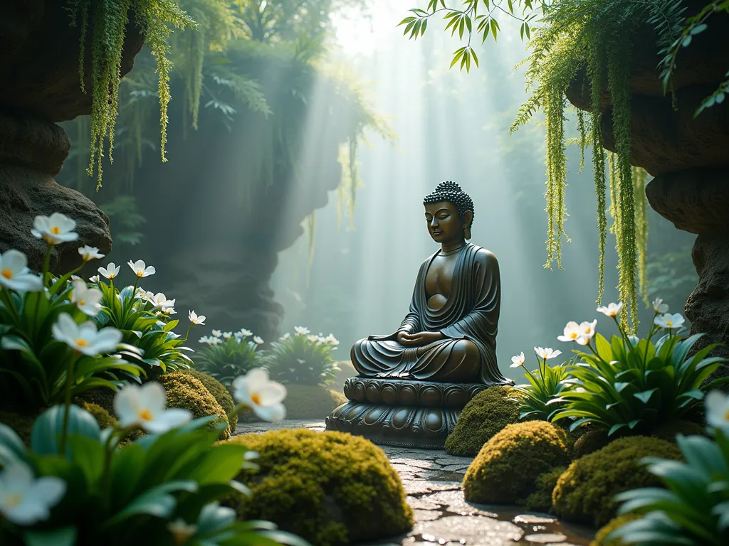
<svg viewBox="0 0 729 546">
<path fill-rule="evenodd" d="M 0 515 L 16 525 L 47 520 L 50 508 L 66 493 L 66 482 L 57 476 L 34 478 L 27 464 L 14 461 L 0 472 Z"/>
</svg>

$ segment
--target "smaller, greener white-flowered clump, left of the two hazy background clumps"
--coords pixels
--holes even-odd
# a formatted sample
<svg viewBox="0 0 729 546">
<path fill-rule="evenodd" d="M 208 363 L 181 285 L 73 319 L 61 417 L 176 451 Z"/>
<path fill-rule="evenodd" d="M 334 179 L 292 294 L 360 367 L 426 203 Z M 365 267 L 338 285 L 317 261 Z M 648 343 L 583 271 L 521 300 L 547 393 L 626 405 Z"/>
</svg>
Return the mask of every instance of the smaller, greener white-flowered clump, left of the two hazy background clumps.
<svg viewBox="0 0 729 546">
<path fill-rule="evenodd" d="M 243 336 L 241 332 L 246 333 L 246 336 Z M 200 343 L 204 347 L 195 352 L 195 368 L 230 387 L 233 379 L 259 366 L 261 364 L 261 355 L 258 352 L 260 344 L 249 339 L 250 332 L 245 330 L 241 332 L 214 330 L 212 336 L 201 337 Z"/>
</svg>

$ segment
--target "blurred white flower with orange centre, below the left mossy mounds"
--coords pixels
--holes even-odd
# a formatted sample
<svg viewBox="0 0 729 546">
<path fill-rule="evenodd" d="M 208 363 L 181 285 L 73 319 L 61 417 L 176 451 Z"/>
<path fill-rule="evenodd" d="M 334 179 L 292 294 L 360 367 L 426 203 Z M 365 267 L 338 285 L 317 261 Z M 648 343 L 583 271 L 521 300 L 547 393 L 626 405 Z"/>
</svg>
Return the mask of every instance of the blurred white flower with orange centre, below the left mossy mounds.
<svg viewBox="0 0 729 546">
<path fill-rule="evenodd" d="M 114 396 L 114 414 L 120 427 L 141 427 L 152 434 L 163 434 L 192 420 L 190 411 L 165 409 L 165 403 L 165 389 L 159 383 L 128 384 Z"/>
</svg>

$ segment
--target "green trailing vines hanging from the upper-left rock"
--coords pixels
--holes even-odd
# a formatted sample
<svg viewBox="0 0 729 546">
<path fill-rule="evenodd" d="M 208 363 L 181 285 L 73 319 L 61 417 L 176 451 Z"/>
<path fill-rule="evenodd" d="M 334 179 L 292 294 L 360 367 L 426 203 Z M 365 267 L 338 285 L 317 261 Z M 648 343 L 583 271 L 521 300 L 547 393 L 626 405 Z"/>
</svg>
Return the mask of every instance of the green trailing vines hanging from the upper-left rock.
<svg viewBox="0 0 729 546">
<path fill-rule="evenodd" d="M 157 61 L 160 101 L 160 154 L 165 159 L 167 141 L 167 105 L 170 100 L 171 63 L 169 37 L 173 28 L 186 28 L 195 21 L 174 0 L 66 0 L 71 25 L 79 26 L 79 79 L 85 92 L 85 44 L 89 24 L 91 36 L 91 153 L 89 176 L 97 173 L 101 187 L 101 159 L 108 139 L 109 162 L 113 161 L 114 125 L 119 114 L 119 84 L 126 27 L 133 14 L 145 42 Z"/>
</svg>

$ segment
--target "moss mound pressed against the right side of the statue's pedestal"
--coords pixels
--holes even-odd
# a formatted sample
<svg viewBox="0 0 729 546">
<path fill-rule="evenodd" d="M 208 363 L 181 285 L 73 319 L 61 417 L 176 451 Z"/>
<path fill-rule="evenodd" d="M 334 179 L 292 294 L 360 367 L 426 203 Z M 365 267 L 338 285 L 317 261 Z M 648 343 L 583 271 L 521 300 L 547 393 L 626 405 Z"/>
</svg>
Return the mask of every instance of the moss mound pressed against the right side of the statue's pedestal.
<svg viewBox="0 0 729 546">
<path fill-rule="evenodd" d="M 477 454 L 507 424 L 518 422 L 519 405 L 510 400 L 517 395 L 515 389 L 502 386 L 488 387 L 475 395 L 445 440 L 445 451 L 457 456 Z"/>
</svg>

